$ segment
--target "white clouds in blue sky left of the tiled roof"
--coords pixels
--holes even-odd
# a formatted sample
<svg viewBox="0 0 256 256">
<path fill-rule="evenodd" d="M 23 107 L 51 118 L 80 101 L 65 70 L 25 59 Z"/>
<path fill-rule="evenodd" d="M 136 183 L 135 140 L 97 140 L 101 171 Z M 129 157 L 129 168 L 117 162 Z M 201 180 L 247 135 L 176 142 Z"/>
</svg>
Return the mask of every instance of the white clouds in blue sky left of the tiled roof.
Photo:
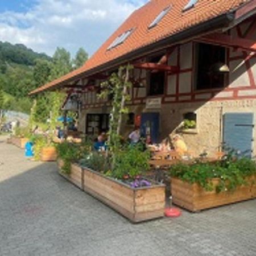
<svg viewBox="0 0 256 256">
<path fill-rule="evenodd" d="M 26 13 L 0 13 L 0 40 L 52 55 L 57 46 L 90 55 L 147 0 L 39 0 Z"/>
</svg>

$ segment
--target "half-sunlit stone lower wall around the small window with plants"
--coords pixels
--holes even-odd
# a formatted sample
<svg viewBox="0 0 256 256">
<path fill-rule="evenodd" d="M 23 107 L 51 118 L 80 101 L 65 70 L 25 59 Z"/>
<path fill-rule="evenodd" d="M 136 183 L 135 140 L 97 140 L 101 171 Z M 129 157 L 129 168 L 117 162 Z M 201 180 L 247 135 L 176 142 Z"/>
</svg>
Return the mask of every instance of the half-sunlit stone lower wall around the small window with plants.
<svg viewBox="0 0 256 256">
<path fill-rule="evenodd" d="M 209 101 L 199 103 L 183 103 L 164 105 L 161 110 L 161 137 L 171 137 L 177 133 L 177 127 L 183 121 L 183 114 L 195 112 L 197 127 L 190 131 L 179 133 L 187 143 L 189 151 L 199 155 L 207 151 L 209 155 L 220 150 L 222 145 L 223 115 L 225 113 L 254 113 L 256 114 L 256 100 Z M 253 137 L 256 135 L 254 129 Z M 256 144 L 253 144 L 253 155 Z"/>
</svg>

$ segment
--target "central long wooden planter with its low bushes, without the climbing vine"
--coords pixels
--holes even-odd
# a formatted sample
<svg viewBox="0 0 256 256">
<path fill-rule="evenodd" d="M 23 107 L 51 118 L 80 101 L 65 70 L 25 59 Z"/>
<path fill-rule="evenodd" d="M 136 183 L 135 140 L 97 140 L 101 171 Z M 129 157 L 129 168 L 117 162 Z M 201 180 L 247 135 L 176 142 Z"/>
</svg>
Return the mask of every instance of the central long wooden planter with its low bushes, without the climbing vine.
<svg viewBox="0 0 256 256">
<path fill-rule="evenodd" d="M 163 217 L 165 185 L 143 178 L 149 170 L 148 156 L 136 147 L 125 148 L 110 170 L 100 153 L 88 155 L 81 161 L 84 190 L 132 222 Z"/>
</svg>

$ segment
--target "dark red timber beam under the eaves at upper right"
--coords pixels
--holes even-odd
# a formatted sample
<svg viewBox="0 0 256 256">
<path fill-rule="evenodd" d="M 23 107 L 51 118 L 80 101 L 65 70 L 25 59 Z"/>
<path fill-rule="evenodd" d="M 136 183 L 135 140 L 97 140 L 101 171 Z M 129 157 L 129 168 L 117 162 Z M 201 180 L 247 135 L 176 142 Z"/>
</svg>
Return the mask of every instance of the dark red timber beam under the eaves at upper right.
<svg viewBox="0 0 256 256">
<path fill-rule="evenodd" d="M 234 37 L 226 34 L 214 33 L 203 36 L 199 39 L 200 42 L 218 44 L 225 47 L 234 47 L 242 51 L 256 52 L 256 42 L 249 39 Z"/>
</svg>

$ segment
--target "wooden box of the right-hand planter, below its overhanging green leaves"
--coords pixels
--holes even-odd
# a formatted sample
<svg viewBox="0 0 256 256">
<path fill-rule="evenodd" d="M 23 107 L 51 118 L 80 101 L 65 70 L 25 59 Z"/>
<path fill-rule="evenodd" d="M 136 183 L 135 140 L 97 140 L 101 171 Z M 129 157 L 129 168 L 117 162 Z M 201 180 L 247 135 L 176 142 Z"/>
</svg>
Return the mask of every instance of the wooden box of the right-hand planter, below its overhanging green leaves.
<svg viewBox="0 0 256 256">
<path fill-rule="evenodd" d="M 180 179 L 171 179 L 172 203 L 191 212 L 197 212 L 203 209 L 218 207 L 225 204 L 236 203 L 256 197 L 256 186 L 251 181 L 256 180 L 255 176 L 250 177 L 248 186 L 241 186 L 236 191 L 226 191 L 216 193 L 205 191 L 198 184 L 189 184 Z M 216 187 L 218 179 L 213 179 L 213 185 Z"/>
</svg>

